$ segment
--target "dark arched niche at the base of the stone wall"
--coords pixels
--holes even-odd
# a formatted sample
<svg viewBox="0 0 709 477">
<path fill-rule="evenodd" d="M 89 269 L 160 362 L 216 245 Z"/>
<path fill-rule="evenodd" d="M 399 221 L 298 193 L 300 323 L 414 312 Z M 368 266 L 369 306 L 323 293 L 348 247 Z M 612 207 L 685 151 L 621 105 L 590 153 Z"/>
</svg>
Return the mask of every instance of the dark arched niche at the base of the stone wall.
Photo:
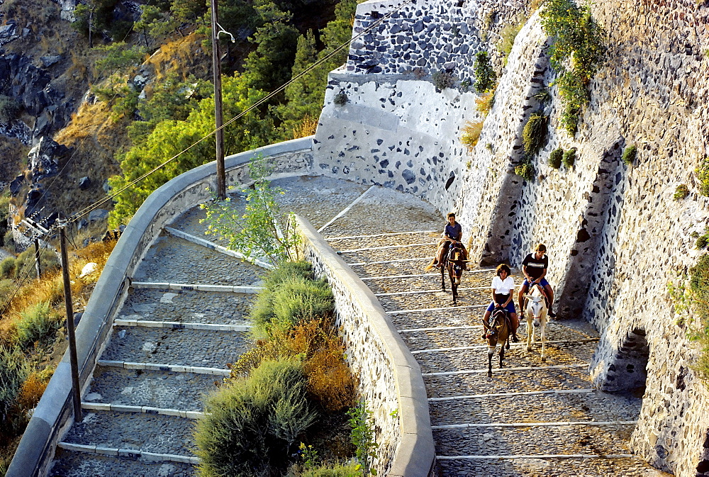
<svg viewBox="0 0 709 477">
<path fill-rule="evenodd" d="M 623 345 L 608 366 L 608 373 L 605 375 L 601 390 L 644 391 L 649 354 L 650 348 L 645 338 L 645 331 L 632 330 L 625 337 Z"/>
</svg>

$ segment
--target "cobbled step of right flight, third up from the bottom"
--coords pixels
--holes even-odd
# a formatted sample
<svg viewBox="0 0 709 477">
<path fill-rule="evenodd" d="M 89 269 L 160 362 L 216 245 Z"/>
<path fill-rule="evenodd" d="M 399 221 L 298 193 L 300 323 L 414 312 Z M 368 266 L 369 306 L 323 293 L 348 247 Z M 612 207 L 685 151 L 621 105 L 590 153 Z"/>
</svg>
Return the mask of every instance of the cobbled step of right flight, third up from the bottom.
<svg viewBox="0 0 709 477">
<path fill-rule="evenodd" d="M 493 422 L 633 421 L 640 402 L 623 396 L 588 392 L 522 395 L 479 395 L 475 398 L 430 400 L 433 426 Z"/>
</svg>

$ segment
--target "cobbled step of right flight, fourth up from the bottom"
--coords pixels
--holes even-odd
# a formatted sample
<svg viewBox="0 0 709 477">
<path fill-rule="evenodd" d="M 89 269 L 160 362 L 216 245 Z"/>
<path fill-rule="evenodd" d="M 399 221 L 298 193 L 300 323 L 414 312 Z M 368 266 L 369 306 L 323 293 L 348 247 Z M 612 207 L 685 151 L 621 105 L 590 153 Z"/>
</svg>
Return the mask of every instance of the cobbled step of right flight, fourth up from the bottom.
<svg viewBox="0 0 709 477">
<path fill-rule="evenodd" d="M 468 394 L 513 393 L 545 389 L 588 389 L 591 378 L 585 368 L 531 369 L 518 372 L 424 376 L 429 398 L 445 398 Z"/>
</svg>

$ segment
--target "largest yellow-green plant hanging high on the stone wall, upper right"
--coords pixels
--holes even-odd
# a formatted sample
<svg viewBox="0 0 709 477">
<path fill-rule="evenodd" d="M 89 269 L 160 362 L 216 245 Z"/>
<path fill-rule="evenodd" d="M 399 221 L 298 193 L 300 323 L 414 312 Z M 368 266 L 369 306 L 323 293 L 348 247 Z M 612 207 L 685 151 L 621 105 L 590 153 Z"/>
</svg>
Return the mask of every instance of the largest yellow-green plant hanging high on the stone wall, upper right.
<svg viewBox="0 0 709 477">
<path fill-rule="evenodd" d="M 562 128 L 570 135 L 579 127 L 581 109 L 591 99 L 588 85 L 603 61 L 603 28 L 591 18 L 588 6 L 579 8 L 572 0 L 549 0 L 540 13 L 542 27 L 554 37 L 550 48 L 554 81 L 564 108 Z"/>
</svg>

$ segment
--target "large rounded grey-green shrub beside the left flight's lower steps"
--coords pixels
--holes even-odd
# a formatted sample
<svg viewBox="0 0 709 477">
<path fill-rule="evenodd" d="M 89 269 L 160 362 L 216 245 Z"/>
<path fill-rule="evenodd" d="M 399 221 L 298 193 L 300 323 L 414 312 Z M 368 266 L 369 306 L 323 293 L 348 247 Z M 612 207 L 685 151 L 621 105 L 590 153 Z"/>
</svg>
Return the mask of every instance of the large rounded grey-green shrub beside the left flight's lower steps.
<svg viewBox="0 0 709 477">
<path fill-rule="evenodd" d="M 298 361 L 266 361 L 206 400 L 196 425 L 201 476 L 274 475 L 286 469 L 296 439 L 316 420 Z"/>
</svg>

